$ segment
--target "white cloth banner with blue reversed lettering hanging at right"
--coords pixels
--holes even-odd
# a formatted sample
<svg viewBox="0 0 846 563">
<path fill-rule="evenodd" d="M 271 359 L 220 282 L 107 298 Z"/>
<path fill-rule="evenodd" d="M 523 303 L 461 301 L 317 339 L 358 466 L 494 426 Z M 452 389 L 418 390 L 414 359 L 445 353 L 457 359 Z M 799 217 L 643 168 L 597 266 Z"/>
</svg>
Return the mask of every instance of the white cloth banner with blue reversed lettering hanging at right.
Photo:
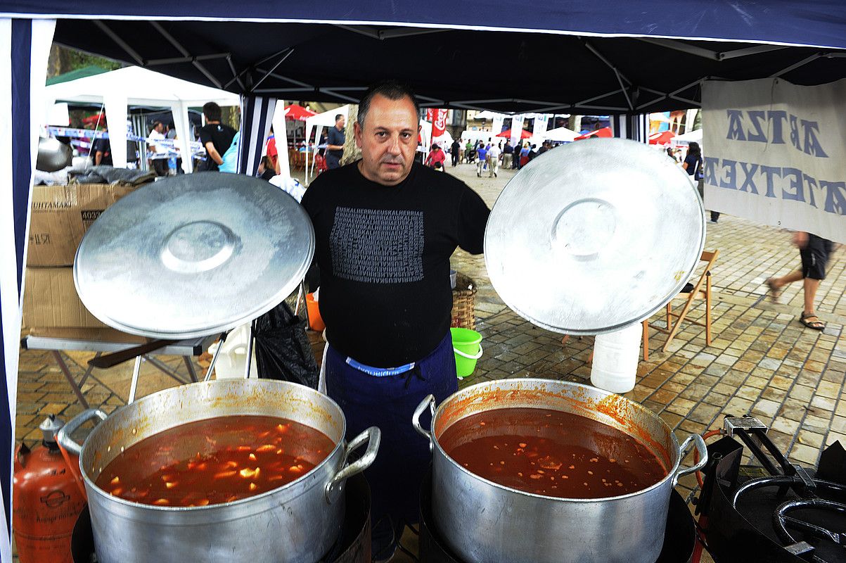
<svg viewBox="0 0 846 563">
<path fill-rule="evenodd" d="M 702 86 L 705 206 L 846 243 L 846 80 Z"/>
</svg>

